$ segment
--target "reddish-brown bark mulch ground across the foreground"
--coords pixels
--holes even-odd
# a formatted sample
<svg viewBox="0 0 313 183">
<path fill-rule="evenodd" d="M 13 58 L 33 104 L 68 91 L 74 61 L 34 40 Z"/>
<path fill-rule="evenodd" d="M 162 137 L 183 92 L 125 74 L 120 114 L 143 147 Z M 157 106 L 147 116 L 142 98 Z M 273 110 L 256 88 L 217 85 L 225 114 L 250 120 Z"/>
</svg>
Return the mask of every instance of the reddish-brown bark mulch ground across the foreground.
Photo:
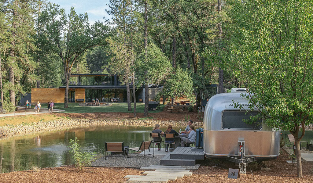
<svg viewBox="0 0 313 183">
<path fill-rule="evenodd" d="M 247 175 L 241 176 L 240 179 L 228 179 L 228 168 L 238 168 L 233 163 L 224 162 L 221 168 L 212 167 L 218 161 L 208 160 L 204 162 L 199 170 L 192 171 L 193 175 L 184 177 L 169 183 L 205 183 L 205 182 L 253 182 L 253 183 L 268 183 L 268 182 L 288 182 L 288 183 L 312 183 L 313 182 L 313 163 L 303 163 L 303 179 L 296 177 L 296 166 L 286 163 L 289 159 L 288 153 L 281 150 L 281 155 L 277 160 L 264 161 L 263 163 L 271 168 L 269 171 L 261 170 L 261 166 L 256 163 L 251 163 L 247 167 Z M 251 174 L 251 171 L 253 175 Z M 41 169 L 38 172 L 18 171 L 11 173 L 0 174 L 0 183 L 6 182 L 111 182 L 119 183 L 126 182 L 123 178 L 126 175 L 141 175 L 143 171 L 130 168 L 114 168 L 114 167 L 86 167 L 84 171 L 77 172 L 73 166 L 62 166 L 57 168 Z"/>
</svg>

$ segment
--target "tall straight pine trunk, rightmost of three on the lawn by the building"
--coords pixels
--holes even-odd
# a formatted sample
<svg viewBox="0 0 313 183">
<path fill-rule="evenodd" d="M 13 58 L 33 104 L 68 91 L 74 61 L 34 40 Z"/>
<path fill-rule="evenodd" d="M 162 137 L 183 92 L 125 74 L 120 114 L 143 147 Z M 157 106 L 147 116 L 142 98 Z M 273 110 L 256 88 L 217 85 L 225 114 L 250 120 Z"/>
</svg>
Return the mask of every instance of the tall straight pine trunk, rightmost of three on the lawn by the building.
<svg viewBox="0 0 313 183">
<path fill-rule="evenodd" d="M 147 57 L 147 47 L 148 47 L 148 10 L 147 7 L 148 6 L 148 2 L 147 0 L 145 0 L 145 30 L 144 30 L 144 47 L 145 47 L 145 56 Z M 146 60 L 146 62 L 149 62 L 148 60 Z M 148 74 L 148 71 L 145 71 L 145 75 Z M 149 83 L 148 83 L 148 78 L 145 78 L 146 82 L 145 82 L 145 112 L 144 112 L 144 116 L 147 117 L 148 116 L 148 111 L 149 111 Z"/>
</svg>

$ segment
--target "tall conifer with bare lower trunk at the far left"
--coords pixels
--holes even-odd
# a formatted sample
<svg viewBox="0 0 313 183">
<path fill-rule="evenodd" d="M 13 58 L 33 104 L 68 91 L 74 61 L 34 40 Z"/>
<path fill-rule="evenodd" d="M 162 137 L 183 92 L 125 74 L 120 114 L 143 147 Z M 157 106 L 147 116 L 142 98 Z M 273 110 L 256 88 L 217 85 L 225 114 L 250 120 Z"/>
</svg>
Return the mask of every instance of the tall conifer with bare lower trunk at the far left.
<svg viewBox="0 0 313 183">
<path fill-rule="evenodd" d="M 5 21 L 11 24 L 8 31 L 10 35 L 6 42 L 10 43 L 9 54 L 4 58 L 8 67 L 8 90 L 10 101 L 16 105 L 16 91 L 23 93 L 28 82 L 33 82 L 33 71 L 36 63 L 31 57 L 35 50 L 34 20 L 32 1 L 10 0 L 2 2 Z M 19 96 L 19 95 L 17 95 Z"/>
</svg>

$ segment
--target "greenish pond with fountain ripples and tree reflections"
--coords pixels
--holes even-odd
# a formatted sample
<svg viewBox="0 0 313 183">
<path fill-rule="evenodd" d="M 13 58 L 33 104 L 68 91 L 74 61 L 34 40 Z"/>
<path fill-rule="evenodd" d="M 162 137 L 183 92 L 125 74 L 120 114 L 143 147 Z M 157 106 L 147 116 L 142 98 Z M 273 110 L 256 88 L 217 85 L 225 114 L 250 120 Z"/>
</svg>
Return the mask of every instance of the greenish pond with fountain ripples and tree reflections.
<svg viewBox="0 0 313 183">
<path fill-rule="evenodd" d="M 174 128 L 176 131 L 179 129 L 183 130 L 184 127 Z M 0 172 L 27 170 L 32 166 L 45 168 L 69 165 L 69 139 L 75 137 L 80 140 L 83 151 L 103 153 L 105 141 L 124 141 L 125 146 L 136 147 L 141 141 L 150 140 L 151 130 L 151 127 L 94 126 L 0 139 L 0 159 L 3 158 L 0 161 Z M 306 131 L 303 141 L 313 143 L 313 131 Z"/>
</svg>

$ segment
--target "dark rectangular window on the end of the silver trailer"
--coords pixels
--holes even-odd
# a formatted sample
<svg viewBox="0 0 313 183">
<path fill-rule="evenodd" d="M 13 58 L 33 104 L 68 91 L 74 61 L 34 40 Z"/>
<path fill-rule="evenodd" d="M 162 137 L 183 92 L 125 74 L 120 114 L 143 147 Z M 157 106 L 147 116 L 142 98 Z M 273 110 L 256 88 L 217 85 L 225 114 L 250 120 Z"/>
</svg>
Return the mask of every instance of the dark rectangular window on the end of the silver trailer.
<svg viewBox="0 0 313 183">
<path fill-rule="evenodd" d="M 258 111 L 223 111 L 222 113 L 222 126 L 224 129 L 255 129 L 262 128 L 262 120 L 254 121 L 252 124 L 247 124 L 243 120 L 249 119 L 250 116 L 256 116 Z"/>
</svg>

